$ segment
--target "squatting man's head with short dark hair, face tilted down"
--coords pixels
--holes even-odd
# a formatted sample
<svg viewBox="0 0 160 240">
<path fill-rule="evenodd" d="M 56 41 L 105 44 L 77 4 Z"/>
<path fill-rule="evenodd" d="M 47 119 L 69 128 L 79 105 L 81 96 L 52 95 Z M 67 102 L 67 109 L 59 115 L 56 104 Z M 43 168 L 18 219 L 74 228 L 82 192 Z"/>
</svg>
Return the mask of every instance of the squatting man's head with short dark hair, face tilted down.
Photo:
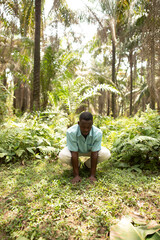
<svg viewBox="0 0 160 240">
<path fill-rule="evenodd" d="M 80 130 L 81 130 L 81 134 L 84 137 L 86 137 L 92 128 L 93 115 L 90 112 L 81 113 L 79 116 L 78 124 L 79 124 Z"/>
</svg>

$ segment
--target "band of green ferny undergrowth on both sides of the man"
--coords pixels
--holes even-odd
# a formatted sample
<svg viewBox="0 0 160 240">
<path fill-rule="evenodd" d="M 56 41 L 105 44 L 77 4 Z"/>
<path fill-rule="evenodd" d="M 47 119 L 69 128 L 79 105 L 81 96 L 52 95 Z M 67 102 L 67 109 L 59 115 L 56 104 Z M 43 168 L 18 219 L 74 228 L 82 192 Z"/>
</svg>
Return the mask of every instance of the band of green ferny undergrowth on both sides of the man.
<svg viewBox="0 0 160 240">
<path fill-rule="evenodd" d="M 16 162 L 56 157 L 65 146 L 69 124 L 62 113 L 43 112 L 9 119 L 0 127 L 0 161 Z M 102 145 L 116 166 L 160 168 L 160 115 L 148 110 L 133 118 L 95 117 L 103 131 Z"/>
</svg>

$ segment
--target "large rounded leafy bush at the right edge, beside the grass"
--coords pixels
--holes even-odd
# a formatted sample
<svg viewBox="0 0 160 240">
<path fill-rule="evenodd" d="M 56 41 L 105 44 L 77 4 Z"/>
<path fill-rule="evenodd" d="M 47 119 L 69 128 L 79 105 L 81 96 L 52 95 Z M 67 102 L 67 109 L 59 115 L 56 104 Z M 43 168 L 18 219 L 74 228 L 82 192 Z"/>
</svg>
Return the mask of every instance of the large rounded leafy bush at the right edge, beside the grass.
<svg viewBox="0 0 160 240">
<path fill-rule="evenodd" d="M 150 110 L 142 113 L 140 117 L 128 119 L 128 124 L 119 133 L 117 132 L 114 139 L 112 159 L 119 166 L 136 165 L 145 169 L 159 168 L 160 116 Z"/>
</svg>

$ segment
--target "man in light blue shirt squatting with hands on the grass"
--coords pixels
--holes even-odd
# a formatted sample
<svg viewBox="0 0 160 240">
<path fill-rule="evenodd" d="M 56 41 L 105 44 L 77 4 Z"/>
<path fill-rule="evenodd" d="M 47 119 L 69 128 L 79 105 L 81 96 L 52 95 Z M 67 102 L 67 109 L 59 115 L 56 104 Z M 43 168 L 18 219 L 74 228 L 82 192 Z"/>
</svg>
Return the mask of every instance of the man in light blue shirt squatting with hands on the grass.
<svg viewBox="0 0 160 240">
<path fill-rule="evenodd" d="M 96 181 L 97 163 L 110 158 L 110 151 L 101 147 L 102 131 L 93 126 L 93 116 L 90 112 L 83 112 L 78 124 L 67 130 L 67 147 L 59 153 L 59 159 L 73 167 L 74 178 L 72 183 L 81 182 L 79 176 L 79 156 L 90 156 L 84 163 L 90 170 L 89 180 Z"/>
</svg>

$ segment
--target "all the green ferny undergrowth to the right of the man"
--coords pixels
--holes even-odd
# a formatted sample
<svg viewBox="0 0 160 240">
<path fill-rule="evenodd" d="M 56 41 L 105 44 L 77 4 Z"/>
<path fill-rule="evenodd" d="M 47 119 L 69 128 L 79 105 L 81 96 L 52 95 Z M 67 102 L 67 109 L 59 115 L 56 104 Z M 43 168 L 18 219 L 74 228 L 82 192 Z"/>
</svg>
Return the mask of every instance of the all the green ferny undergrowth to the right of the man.
<svg viewBox="0 0 160 240">
<path fill-rule="evenodd" d="M 119 167 L 160 169 L 160 115 L 148 110 L 133 118 L 96 119 L 103 131 L 103 144 L 112 151 Z"/>
</svg>

